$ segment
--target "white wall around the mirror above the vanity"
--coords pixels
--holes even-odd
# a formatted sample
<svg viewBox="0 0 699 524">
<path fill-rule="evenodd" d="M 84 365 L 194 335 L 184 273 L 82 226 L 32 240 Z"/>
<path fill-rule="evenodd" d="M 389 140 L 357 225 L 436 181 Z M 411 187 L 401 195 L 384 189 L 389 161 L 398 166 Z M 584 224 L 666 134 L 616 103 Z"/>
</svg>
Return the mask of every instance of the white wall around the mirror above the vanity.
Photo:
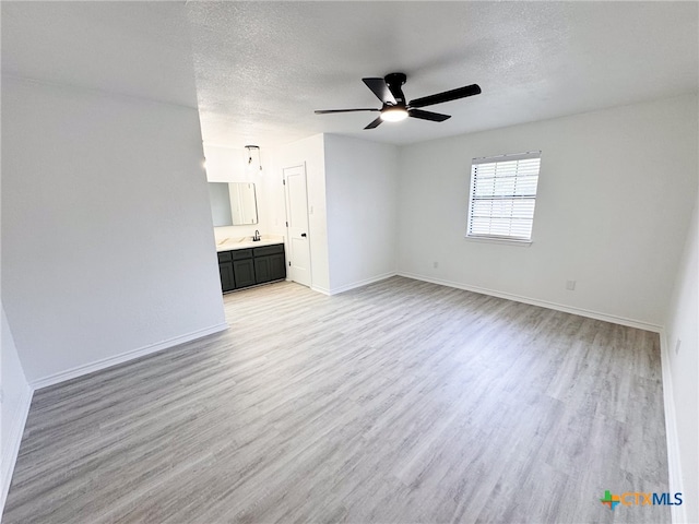
<svg viewBox="0 0 699 524">
<path fill-rule="evenodd" d="M 248 156 L 245 148 L 221 147 L 206 143 L 204 143 L 204 156 L 206 157 L 206 179 L 210 182 L 252 182 L 258 204 L 258 224 L 214 227 L 216 241 L 228 237 L 251 237 L 256 230 L 262 235 L 269 233 L 270 210 L 266 205 L 269 188 L 264 179 L 264 177 L 269 178 L 269 169 L 264 169 L 264 162 L 262 162 L 262 171 L 258 169 L 249 171 L 246 169 Z M 260 158 L 263 158 L 262 152 L 260 152 Z M 253 159 L 257 163 L 257 153 L 253 153 Z"/>
</svg>

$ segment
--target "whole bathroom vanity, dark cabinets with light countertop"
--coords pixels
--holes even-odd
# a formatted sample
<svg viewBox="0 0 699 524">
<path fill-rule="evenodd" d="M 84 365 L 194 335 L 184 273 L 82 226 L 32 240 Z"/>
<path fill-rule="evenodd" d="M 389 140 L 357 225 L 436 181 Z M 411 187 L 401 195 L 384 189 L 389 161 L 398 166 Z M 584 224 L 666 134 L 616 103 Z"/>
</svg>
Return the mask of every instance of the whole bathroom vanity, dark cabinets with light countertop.
<svg viewBox="0 0 699 524">
<path fill-rule="evenodd" d="M 224 293 L 286 278 L 282 237 L 225 239 L 216 246 L 221 288 Z"/>
</svg>

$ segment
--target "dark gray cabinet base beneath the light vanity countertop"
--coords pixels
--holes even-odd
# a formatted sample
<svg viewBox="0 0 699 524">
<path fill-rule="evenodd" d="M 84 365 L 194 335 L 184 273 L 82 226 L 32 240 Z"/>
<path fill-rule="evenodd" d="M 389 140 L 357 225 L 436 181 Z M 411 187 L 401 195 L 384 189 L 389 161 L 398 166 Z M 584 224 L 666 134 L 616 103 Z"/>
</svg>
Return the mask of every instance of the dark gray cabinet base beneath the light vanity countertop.
<svg viewBox="0 0 699 524">
<path fill-rule="evenodd" d="M 224 293 L 286 278 L 284 245 L 220 251 L 218 271 Z"/>
</svg>

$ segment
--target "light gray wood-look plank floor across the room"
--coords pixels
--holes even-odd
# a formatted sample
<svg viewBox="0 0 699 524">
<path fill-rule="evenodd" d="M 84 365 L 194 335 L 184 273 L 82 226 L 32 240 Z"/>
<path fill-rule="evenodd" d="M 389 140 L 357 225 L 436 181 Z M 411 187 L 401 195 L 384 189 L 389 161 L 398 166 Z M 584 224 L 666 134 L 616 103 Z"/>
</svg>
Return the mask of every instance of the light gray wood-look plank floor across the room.
<svg viewBox="0 0 699 524">
<path fill-rule="evenodd" d="M 656 334 L 393 277 L 37 391 L 3 523 L 662 523 Z"/>
</svg>

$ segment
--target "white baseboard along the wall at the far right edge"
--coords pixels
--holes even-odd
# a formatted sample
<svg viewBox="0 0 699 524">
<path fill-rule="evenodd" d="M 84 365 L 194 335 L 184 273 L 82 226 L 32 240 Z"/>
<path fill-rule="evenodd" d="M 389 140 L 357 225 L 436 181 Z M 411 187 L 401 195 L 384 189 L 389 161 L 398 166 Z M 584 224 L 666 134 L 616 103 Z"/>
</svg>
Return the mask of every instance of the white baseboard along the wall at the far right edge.
<svg viewBox="0 0 699 524">
<path fill-rule="evenodd" d="M 667 473 L 671 492 L 685 493 L 682 480 L 682 461 L 679 457 L 679 437 L 677 436 L 677 414 L 675 413 L 675 401 L 673 394 L 673 374 L 670 370 L 670 346 L 667 345 L 667 334 L 662 330 L 660 334 L 660 357 L 663 372 L 663 404 L 665 407 L 665 439 L 667 441 Z M 673 505 L 670 509 L 672 522 L 675 524 L 687 521 L 685 504 Z"/>
</svg>

